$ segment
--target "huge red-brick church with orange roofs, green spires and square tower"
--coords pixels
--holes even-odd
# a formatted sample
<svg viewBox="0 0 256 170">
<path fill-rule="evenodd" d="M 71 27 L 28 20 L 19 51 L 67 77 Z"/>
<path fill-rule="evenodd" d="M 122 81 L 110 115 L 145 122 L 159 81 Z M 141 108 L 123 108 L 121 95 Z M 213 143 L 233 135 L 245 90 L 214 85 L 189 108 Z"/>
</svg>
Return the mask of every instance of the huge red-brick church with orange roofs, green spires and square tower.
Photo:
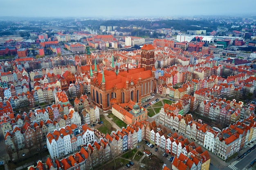
<svg viewBox="0 0 256 170">
<path fill-rule="evenodd" d="M 156 90 L 154 49 L 151 44 L 141 48 L 141 68 L 123 72 L 104 70 L 94 75 L 91 68 L 92 102 L 107 111 L 113 104 L 130 100 L 140 105 L 141 98 L 153 94 Z"/>
</svg>

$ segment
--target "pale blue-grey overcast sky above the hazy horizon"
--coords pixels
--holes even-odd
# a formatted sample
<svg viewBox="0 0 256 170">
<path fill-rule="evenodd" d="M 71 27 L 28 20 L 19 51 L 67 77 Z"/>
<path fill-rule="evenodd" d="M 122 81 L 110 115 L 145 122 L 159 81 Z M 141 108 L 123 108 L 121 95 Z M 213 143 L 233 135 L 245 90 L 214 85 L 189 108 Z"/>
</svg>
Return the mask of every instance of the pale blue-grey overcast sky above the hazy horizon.
<svg viewBox="0 0 256 170">
<path fill-rule="evenodd" d="M 0 16 L 256 15 L 256 0 L 1 0 Z"/>
</svg>

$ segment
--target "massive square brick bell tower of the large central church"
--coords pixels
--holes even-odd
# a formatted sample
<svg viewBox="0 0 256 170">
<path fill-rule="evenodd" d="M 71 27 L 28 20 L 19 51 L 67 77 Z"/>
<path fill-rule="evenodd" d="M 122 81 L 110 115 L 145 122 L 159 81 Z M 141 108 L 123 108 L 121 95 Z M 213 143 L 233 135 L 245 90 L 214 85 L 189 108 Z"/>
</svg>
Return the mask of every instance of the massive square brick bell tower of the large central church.
<svg viewBox="0 0 256 170">
<path fill-rule="evenodd" d="M 144 44 L 141 47 L 141 68 L 145 68 L 145 70 L 151 70 L 153 65 L 155 64 L 155 48 L 151 44 Z"/>
</svg>

